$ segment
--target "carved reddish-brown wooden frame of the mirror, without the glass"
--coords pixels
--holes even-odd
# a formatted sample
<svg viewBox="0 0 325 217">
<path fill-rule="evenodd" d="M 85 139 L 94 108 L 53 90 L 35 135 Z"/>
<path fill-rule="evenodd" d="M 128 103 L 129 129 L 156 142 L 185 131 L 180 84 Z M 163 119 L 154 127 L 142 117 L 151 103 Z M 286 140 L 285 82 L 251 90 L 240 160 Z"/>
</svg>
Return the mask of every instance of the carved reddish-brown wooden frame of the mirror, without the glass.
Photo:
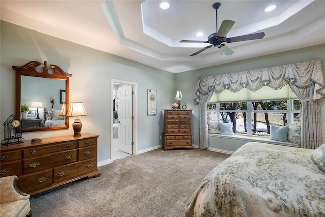
<svg viewBox="0 0 325 217">
<path fill-rule="evenodd" d="M 21 76 L 32 76 L 32 77 L 41 77 L 41 78 L 49 78 L 56 80 L 65 80 L 66 81 L 66 111 L 69 109 L 69 78 L 72 74 L 68 74 L 64 72 L 59 66 L 50 65 L 50 67 L 54 70 L 54 73 L 50 74 L 48 72 L 49 68 L 47 67 L 47 61 L 44 61 L 44 67 L 42 67 L 43 71 L 36 71 L 36 67 L 41 65 L 40 62 L 30 61 L 23 66 L 12 66 L 14 70 L 16 70 L 16 115 L 17 117 L 21 117 L 20 113 L 20 105 L 21 105 Z M 69 118 L 66 119 L 66 125 L 62 126 L 54 126 L 54 127 L 41 127 L 41 128 L 25 128 L 21 129 L 22 132 L 31 132 L 31 131 L 45 131 L 45 130 L 57 130 L 57 129 L 67 129 L 69 128 Z"/>
</svg>

